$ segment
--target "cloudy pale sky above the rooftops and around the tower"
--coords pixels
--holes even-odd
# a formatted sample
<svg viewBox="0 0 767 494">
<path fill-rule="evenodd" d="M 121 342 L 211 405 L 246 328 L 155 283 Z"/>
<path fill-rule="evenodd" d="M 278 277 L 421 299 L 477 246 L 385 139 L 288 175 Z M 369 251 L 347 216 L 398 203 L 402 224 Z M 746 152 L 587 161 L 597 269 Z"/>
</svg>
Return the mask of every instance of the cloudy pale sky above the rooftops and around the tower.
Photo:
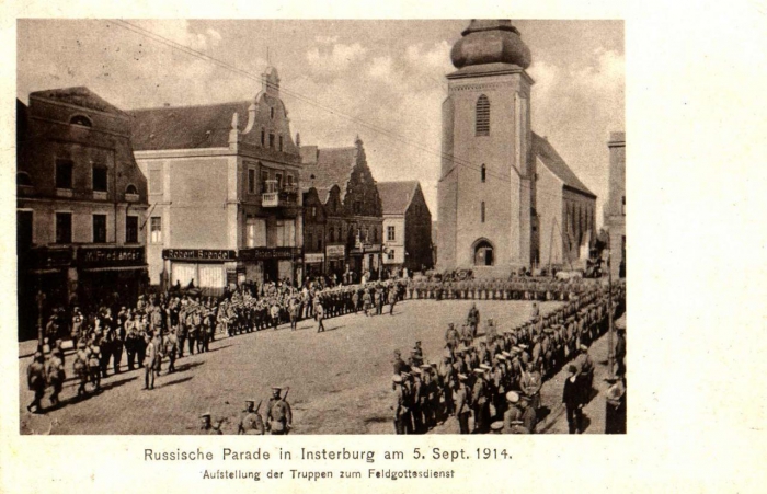
<svg viewBox="0 0 767 494">
<path fill-rule="evenodd" d="M 19 20 L 16 97 L 85 85 L 122 110 L 248 100 L 268 57 L 302 145 L 353 146 L 359 136 L 375 179 L 420 181 L 437 219 L 445 74 L 455 70 L 450 48 L 468 20 L 127 22 L 139 30 L 108 20 Z M 623 23 L 513 23 L 533 54 L 533 130 L 598 196 L 602 225 L 607 141 L 625 129 Z"/>
</svg>

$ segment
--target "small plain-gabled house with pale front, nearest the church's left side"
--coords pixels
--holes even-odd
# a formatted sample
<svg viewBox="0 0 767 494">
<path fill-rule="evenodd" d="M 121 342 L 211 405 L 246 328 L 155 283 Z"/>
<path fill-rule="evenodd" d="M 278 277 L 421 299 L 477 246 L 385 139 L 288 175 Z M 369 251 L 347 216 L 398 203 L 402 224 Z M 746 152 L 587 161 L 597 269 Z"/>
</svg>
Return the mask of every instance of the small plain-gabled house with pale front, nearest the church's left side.
<svg viewBox="0 0 767 494">
<path fill-rule="evenodd" d="M 432 214 L 417 181 L 379 182 L 384 209 L 384 265 L 421 271 L 433 265 Z"/>
</svg>

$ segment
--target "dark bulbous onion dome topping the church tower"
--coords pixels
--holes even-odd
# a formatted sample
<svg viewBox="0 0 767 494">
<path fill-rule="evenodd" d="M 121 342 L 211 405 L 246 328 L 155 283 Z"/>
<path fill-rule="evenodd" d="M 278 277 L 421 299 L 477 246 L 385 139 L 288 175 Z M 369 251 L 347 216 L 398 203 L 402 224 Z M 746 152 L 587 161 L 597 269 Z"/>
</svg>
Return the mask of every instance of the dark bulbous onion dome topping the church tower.
<svg viewBox="0 0 767 494">
<path fill-rule="evenodd" d="M 482 64 L 530 66 L 530 48 L 510 20 L 472 19 L 462 37 L 453 46 L 450 60 L 457 69 Z"/>
</svg>

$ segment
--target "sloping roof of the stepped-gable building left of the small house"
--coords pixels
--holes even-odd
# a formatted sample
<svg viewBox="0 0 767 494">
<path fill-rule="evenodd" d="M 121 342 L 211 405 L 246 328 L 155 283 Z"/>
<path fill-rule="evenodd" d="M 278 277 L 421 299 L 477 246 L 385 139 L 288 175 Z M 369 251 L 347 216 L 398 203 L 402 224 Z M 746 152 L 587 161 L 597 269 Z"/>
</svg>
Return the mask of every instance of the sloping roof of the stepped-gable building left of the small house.
<svg viewBox="0 0 767 494">
<path fill-rule="evenodd" d="M 305 151 L 305 148 L 307 149 Z M 316 150 L 316 160 L 311 160 L 311 150 Z M 306 159 L 304 159 L 306 156 Z M 317 188 L 320 199 L 328 200 L 328 194 L 333 185 L 341 187 L 341 193 L 346 191 L 346 184 L 352 176 L 352 169 L 356 163 L 357 149 L 328 148 L 317 149 L 317 146 L 301 146 L 301 188 L 308 191 Z M 313 176 L 313 179 L 312 179 Z"/>
</svg>

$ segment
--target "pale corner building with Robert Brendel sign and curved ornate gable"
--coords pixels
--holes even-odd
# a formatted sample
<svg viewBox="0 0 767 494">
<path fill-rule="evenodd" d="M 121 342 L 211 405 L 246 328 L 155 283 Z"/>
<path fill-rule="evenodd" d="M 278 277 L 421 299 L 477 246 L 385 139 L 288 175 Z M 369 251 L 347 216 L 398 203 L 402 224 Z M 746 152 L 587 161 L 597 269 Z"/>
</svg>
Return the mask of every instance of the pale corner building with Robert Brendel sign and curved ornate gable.
<svg viewBox="0 0 767 494">
<path fill-rule="evenodd" d="M 253 100 L 130 115 L 149 182 L 152 284 L 216 292 L 300 278 L 301 160 L 276 69 Z"/>
</svg>

